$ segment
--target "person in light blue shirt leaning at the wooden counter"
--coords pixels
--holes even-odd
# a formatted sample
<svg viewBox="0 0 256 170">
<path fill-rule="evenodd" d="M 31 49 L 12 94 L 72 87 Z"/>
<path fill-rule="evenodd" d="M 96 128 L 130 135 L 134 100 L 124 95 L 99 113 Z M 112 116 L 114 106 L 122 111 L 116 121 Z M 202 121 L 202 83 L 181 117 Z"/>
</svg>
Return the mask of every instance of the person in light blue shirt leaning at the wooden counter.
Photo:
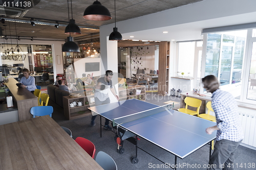
<svg viewBox="0 0 256 170">
<path fill-rule="evenodd" d="M 35 86 L 35 78 L 29 75 L 29 70 L 27 68 L 22 70 L 24 77 L 22 77 L 19 83 L 22 83 L 20 87 L 27 88 L 30 92 L 34 93 Z"/>
</svg>

